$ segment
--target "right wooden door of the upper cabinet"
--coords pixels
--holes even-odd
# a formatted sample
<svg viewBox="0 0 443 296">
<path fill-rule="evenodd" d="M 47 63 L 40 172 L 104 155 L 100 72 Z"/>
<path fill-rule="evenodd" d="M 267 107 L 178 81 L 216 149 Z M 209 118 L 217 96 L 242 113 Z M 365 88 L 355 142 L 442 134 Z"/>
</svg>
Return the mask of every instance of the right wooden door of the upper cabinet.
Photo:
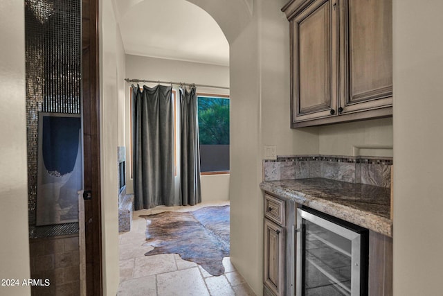
<svg viewBox="0 0 443 296">
<path fill-rule="evenodd" d="M 392 1 L 339 0 L 338 6 L 341 113 L 392 106 Z"/>
</svg>

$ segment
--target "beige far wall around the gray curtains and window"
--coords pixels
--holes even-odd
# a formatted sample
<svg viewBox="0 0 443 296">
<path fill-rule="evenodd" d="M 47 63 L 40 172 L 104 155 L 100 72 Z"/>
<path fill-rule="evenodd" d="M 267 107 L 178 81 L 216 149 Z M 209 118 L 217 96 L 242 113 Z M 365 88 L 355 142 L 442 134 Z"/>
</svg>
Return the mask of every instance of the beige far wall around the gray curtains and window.
<svg viewBox="0 0 443 296">
<path fill-rule="evenodd" d="M 160 80 L 172 82 L 188 82 L 201 85 L 215 85 L 229 87 L 229 67 L 200 64 L 195 62 L 183 62 L 177 60 L 164 60 L 159 58 L 148 58 L 139 55 L 126 55 L 127 78 L 137 78 L 143 80 Z M 140 83 L 142 86 L 143 83 Z M 156 83 L 145 83 L 147 86 L 154 86 Z M 134 193 L 133 180 L 130 177 L 131 167 L 129 159 L 131 123 L 129 105 L 131 83 L 126 83 L 126 146 L 127 146 L 127 193 Z M 177 85 L 174 85 L 177 89 Z M 209 87 L 197 87 L 199 93 L 229 94 L 228 89 L 218 89 Z M 178 95 L 178 93 L 177 93 Z M 232 103 L 232 102 L 231 102 Z M 177 107 L 179 105 L 177 104 Z M 179 118 L 177 126 L 179 127 Z M 178 143 L 177 143 L 178 144 Z M 178 149 L 177 149 L 178 151 Z M 176 177 L 176 192 L 179 190 L 179 177 Z M 203 175 L 201 176 L 201 201 L 209 202 L 214 200 L 229 199 L 229 175 Z M 178 195 L 177 195 L 178 196 Z"/>
</svg>

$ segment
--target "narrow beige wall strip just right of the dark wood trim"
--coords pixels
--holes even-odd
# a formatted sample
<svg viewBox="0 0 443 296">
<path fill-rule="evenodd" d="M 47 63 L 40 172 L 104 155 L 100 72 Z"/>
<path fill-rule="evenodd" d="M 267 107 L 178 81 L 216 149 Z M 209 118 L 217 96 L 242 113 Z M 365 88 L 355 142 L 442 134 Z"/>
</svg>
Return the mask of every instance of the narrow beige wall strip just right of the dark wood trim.
<svg viewBox="0 0 443 296">
<path fill-rule="evenodd" d="M 125 55 L 110 0 L 100 1 L 100 174 L 102 186 L 103 292 L 116 295 L 118 266 L 117 146 L 125 139 Z M 117 119 L 117 120 L 116 120 Z"/>
</svg>

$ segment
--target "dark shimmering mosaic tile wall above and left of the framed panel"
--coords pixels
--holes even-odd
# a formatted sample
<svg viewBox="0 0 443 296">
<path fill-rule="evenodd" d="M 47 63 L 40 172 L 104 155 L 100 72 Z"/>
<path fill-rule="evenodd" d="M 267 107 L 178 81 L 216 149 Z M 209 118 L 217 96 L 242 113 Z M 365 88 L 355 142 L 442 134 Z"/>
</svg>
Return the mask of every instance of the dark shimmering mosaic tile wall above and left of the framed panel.
<svg viewBox="0 0 443 296">
<path fill-rule="evenodd" d="M 80 0 L 25 0 L 29 224 L 37 203 L 38 113 L 80 114 Z"/>
</svg>

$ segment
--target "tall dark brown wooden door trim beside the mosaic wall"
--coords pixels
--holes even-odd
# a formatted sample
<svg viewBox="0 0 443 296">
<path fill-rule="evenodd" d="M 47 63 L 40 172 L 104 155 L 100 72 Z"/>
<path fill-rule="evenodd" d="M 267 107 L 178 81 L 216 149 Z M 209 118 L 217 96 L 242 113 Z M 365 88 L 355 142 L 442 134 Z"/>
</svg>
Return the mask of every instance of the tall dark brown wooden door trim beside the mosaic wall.
<svg viewBox="0 0 443 296">
<path fill-rule="evenodd" d="M 98 0 L 82 0 L 82 116 L 87 295 L 102 295 Z"/>
</svg>

